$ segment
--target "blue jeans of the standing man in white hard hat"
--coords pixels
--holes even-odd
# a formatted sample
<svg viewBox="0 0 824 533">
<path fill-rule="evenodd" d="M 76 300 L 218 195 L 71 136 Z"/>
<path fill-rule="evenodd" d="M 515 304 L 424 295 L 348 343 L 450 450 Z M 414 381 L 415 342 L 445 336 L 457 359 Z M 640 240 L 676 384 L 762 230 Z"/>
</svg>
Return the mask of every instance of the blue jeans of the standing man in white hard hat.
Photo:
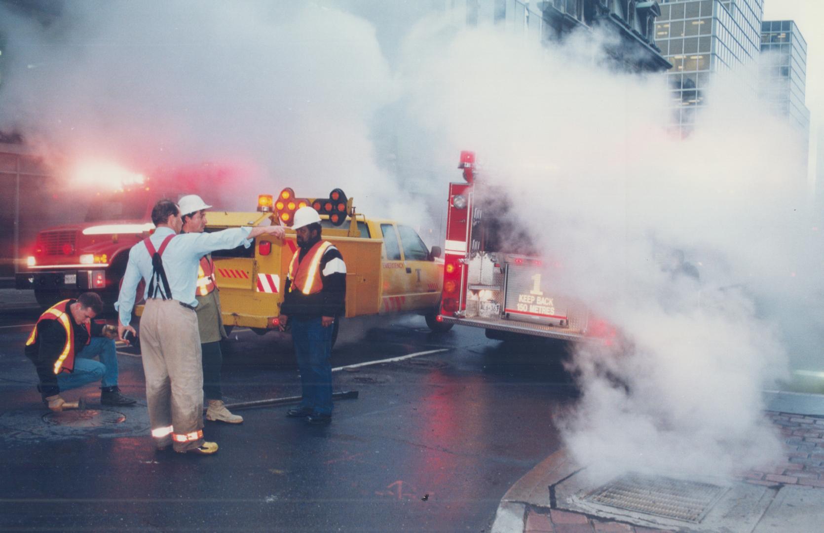
<svg viewBox="0 0 824 533">
<path fill-rule="evenodd" d="M 332 328 L 323 327 L 321 317 L 289 320 L 301 372 L 301 407 L 312 414 L 332 414 Z"/>
</svg>

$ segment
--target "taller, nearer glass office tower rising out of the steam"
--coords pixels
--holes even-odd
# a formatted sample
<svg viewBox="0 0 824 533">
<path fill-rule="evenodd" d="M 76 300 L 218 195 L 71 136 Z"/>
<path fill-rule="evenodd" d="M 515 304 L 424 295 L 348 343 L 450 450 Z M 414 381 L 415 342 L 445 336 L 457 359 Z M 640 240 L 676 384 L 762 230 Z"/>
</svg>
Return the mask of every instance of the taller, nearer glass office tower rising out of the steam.
<svg viewBox="0 0 824 533">
<path fill-rule="evenodd" d="M 763 0 L 663 0 L 655 44 L 672 63 L 672 129 L 691 131 L 714 73 L 756 62 L 763 14 Z"/>
</svg>

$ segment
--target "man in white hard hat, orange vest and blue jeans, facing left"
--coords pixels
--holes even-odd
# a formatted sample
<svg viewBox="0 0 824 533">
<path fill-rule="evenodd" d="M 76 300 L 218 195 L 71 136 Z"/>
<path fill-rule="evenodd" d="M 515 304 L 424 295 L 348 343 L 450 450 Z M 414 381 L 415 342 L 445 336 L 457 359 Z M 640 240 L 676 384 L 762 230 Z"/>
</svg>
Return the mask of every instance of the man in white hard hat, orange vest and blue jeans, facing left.
<svg viewBox="0 0 824 533">
<path fill-rule="evenodd" d="M 287 416 L 326 424 L 332 421 L 332 331 L 345 311 L 346 264 L 334 245 L 321 241 L 315 209 L 298 209 L 292 227 L 298 249 L 289 264 L 279 325 L 292 327 L 302 398 Z"/>
</svg>

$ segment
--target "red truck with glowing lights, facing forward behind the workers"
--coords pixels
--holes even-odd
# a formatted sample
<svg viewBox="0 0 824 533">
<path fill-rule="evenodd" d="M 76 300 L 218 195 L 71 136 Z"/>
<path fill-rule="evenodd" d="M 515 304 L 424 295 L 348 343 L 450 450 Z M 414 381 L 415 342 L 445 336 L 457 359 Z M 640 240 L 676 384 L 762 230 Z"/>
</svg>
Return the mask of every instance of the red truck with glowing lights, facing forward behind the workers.
<svg viewBox="0 0 824 533">
<path fill-rule="evenodd" d="M 115 302 L 129 249 L 154 229 L 152 206 L 158 199 L 177 201 L 192 190 L 183 182 L 135 175 L 119 189 L 97 192 L 84 222 L 38 232 L 25 266 L 16 272 L 16 288 L 34 289 L 44 307 L 87 291 Z"/>
</svg>

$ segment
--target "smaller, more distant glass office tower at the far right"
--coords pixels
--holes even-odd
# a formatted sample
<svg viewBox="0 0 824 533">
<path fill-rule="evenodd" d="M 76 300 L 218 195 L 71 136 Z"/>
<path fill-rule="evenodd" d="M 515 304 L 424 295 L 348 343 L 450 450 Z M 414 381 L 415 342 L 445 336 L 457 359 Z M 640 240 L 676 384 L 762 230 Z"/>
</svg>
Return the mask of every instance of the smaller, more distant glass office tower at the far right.
<svg viewBox="0 0 824 533">
<path fill-rule="evenodd" d="M 787 116 L 805 133 L 810 111 L 804 105 L 807 41 L 794 21 L 761 23 L 761 96 L 776 113 Z"/>
</svg>

